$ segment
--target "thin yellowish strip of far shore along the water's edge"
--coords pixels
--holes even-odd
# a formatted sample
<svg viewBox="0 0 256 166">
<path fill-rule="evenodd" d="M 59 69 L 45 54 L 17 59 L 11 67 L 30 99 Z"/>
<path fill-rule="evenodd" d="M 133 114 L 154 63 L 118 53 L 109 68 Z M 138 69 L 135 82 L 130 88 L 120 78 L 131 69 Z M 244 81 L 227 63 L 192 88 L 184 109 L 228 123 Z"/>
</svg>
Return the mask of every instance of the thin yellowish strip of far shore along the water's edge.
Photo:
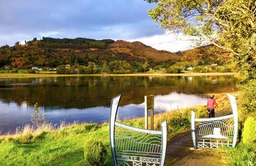
<svg viewBox="0 0 256 166">
<path fill-rule="evenodd" d="M 81 75 L 81 74 L 55 74 L 55 73 L 0 73 L 0 79 L 11 79 L 11 78 L 35 78 L 35 77 L 130 77 L 130 76 L 140 76 L 140 77 L 196 77 L 196 76 L 235 76 L 237 73 L 131 73 L 131 74 L 90 74 L 90 75 Z"/>
</svg>

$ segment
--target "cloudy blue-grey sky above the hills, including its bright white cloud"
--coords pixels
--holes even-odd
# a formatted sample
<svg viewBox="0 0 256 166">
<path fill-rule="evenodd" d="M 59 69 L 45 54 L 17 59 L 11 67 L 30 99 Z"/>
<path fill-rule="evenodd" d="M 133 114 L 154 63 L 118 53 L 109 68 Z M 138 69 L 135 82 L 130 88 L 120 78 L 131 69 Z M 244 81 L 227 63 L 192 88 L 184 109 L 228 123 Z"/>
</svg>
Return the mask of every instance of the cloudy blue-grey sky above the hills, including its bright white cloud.
<svg viewBox="0 0 256 166">
<path fill-rule="evenodd" d="M 188 50 L 190 37 L 159 27 L 143 0 L 1 0 L 0 46 L 34 37 L 122 39 L 158 50 Z"/>
</svg>

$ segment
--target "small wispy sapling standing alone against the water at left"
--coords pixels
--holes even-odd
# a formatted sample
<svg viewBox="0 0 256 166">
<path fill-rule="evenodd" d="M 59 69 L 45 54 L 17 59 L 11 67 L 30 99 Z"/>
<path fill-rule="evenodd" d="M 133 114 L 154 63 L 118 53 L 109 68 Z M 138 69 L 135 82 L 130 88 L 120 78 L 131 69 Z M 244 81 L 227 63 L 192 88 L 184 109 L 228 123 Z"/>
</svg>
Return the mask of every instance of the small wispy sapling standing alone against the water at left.
<svg viewBox="0 0 256 166">
<path fill-rule="evenodd" d="M 34 105 L 34 111 L 35 112 L 31 114 L 31 122 L 33 122 L 35 127 L 42 127 L 44 124 L 46 124 L 46 116 L 39 110 L 39 105 L 37 102 Z"/>
</svg>

